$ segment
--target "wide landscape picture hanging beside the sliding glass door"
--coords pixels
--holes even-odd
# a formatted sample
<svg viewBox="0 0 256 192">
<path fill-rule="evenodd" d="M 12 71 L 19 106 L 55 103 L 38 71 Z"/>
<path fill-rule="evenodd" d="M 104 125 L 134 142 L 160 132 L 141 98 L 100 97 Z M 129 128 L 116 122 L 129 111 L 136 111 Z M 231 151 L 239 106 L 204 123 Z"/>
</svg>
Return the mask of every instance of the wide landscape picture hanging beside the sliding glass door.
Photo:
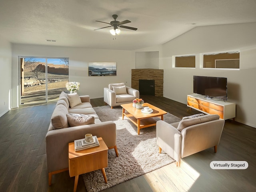
<svg viewBox="0 0 256 192">
<path fill-rule="evenodd" d="M 89 62 L 88 76 L 116 76 L 116 62 Z"/>
</svg>

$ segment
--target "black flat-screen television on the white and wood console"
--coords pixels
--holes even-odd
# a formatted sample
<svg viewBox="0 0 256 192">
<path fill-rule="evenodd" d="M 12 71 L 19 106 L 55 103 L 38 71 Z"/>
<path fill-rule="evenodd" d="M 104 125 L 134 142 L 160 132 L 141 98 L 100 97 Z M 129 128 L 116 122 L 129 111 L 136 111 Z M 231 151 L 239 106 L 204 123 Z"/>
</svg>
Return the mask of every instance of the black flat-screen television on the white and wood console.
<svg viewBox="0 0 256 192">
<path fill-rule="evenodd" d="M 228 78 L 193 76 L 194 93 L 204 95 L 207 98 L 219 98 L 228 100 Z"/>
</svg>

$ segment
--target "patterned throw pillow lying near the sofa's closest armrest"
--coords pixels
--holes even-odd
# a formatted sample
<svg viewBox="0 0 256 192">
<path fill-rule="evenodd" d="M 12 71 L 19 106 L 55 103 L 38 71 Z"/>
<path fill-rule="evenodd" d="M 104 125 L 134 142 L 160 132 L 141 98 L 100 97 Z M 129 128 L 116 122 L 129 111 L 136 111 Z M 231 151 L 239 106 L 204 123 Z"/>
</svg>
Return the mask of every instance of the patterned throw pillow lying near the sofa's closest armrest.
<svg viewBox="0 0 256 192">
<path fill-rule="evenodd" d="M 70 127 L 94 124 L 94 116 L 84 114 L 67 114 L 68 124 Z"/>
</svg>

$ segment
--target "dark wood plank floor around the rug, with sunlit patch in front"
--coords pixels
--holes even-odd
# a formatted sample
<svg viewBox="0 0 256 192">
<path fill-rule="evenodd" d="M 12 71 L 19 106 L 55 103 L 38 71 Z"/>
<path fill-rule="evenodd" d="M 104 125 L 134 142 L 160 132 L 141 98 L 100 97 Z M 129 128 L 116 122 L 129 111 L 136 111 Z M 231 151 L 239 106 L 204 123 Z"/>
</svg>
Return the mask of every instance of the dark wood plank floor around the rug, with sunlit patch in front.
<svg viewBox="0 0 256 192">
<path fill-rule="evenodd" d="M 198 113 L 185 104 L 167 98 L 141 96 L 163 110 L 182 118 Z M 92 99 L 103 106 L 103 98 Z M 52 176 L 48 186 L 45 135 L 55 103 L 13 109 L 0 117 L 0 191 L 71 192 L 74 178 L 68 171 Z M 111 111 L 111 109 L 110 109 Z M 134 178 L 105 192 L 131 191 L 256 191 L 256 129 L 226 120 L 218 152 L 207 149 L 182 159 L 181 166 L 170 164 Z M 212 160 L 244 160 L 246 170 L 212 170 Z M 78 192 L 86 192 L 82 176 Z"/>
</svg>

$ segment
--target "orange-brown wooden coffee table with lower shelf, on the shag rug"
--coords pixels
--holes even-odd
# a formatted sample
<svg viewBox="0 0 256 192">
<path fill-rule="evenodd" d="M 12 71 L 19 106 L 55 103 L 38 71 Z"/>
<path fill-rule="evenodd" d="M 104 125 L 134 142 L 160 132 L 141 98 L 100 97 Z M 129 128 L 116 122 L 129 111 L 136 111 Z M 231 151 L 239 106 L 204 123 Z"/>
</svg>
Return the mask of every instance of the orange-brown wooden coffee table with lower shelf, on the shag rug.
<svg viewBox="0 0 256 192">
<path fill-rule="evenodd" d="M 156 125 L 156 120 L 153 117 L 160 117 L 161 120 L 164 120 L 164 114 L 167 114 L 166 111 L 149 103 L 144 103 L 142 106 L 148 106 L 153 110 L 153 112 L 148 114 L 142 113 L 141 109 L 136 109 L 132 106 L 132 103 L 121 105 L 123 108 L 122 119 L 126 116 L 131 122 L 133 122 L 138 128 L 138 135 L 140 134 L 140 129 Z"/>
</svg>

